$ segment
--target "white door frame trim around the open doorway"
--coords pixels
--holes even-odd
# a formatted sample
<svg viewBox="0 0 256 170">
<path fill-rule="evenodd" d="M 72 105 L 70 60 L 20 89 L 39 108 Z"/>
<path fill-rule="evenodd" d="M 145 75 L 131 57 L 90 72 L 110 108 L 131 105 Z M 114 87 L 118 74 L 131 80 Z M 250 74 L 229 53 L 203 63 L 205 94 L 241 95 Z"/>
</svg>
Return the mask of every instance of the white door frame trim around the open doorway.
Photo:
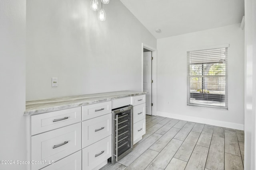
<svg viewBox="0 0 256 170">
<path fill-rule="evenodd" d="M 142 61 L 142 85 L 141 85 L 141 91 L 143 92 L 143 49 L 147 49 L 149 51 L 152 51 L 152 57 L 153 57 L 153 62 L 152 62 L 152 115 L 157 115 L 156 111 L 157 111 L 157 50 L 154 47 L 150 47 L 149 45 L 146 45 L 144 43 L 142 43 L 142 57 L 141 57 L 141 61 Z"/>
</svg>

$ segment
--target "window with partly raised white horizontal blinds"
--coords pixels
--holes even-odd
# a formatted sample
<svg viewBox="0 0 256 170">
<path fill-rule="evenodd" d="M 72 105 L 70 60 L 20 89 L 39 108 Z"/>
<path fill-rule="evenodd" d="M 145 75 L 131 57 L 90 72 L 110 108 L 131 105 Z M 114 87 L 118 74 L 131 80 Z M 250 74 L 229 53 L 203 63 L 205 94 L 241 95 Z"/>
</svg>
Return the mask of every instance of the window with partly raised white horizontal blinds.
<svg viewBox="0 0 256 170">
<path fill-rule="evenodd" d="M 187 104 L 228 109 L 228 48 L 188 51 Z"/>
</svg>

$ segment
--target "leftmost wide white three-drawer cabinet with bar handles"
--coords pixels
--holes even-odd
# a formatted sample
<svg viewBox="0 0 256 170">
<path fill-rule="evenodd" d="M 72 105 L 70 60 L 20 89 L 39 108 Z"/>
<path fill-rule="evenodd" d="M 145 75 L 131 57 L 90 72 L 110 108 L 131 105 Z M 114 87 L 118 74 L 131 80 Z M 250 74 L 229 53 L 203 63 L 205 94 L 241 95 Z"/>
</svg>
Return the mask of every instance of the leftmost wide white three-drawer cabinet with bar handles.
<svg viewBox="0 0 256 170">
<path fill-rule="evenodd" d="M 30 116 L 31 170 L 82 169 L 81 117 L 81 107 Z"/>
</svg>

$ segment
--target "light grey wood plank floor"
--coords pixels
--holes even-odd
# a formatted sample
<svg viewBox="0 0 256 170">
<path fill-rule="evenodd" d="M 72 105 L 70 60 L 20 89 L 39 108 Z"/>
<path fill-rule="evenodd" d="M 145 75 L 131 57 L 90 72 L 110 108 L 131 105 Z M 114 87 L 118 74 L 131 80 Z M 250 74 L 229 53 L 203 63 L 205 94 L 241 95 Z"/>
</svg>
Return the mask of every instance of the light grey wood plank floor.
<svg viewBox="0 0 256 170">
<path fill-rule="evenodd" d="M 243 170 L 244 131 L 146 115 L 132 152 L 100 170 Z"/>
</svg>

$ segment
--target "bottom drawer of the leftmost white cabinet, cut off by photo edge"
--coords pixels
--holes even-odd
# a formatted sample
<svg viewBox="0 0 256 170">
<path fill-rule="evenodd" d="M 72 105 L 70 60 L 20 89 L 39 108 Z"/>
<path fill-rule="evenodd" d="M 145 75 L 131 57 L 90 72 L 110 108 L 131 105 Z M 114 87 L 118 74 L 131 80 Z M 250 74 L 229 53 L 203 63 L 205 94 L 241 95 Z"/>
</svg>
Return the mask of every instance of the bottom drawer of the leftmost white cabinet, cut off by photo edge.
<svg viewBox="0 0 256 170">
<path fill-rule="evenodd" d="M 82 150 L 63 158 L 41 170 L 82 170 Z"/>
</svg>

